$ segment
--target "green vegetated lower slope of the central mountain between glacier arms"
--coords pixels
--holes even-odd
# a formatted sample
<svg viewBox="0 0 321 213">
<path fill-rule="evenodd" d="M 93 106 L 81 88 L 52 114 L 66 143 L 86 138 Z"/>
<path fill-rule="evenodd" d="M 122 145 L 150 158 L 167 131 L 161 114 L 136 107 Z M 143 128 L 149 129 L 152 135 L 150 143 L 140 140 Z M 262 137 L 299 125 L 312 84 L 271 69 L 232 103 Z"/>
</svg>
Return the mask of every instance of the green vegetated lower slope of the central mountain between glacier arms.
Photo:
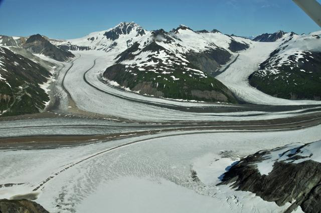
<svg viewBox="0 0 321 213">
<path fill-rule="evenodd" d="M 104 77 L 132 91 L 155 97 L 237 103 L 227 87 L 207 74 L 203 74 L 206 78 L 200 78 L 194 73 L 187 74 L 184 66 L 178 65 L 171 71 L 143 72 L 138 68 L 131 68 L 128 72 L 125 65 L 115 64 L 106 69 Z"/>
</svg>

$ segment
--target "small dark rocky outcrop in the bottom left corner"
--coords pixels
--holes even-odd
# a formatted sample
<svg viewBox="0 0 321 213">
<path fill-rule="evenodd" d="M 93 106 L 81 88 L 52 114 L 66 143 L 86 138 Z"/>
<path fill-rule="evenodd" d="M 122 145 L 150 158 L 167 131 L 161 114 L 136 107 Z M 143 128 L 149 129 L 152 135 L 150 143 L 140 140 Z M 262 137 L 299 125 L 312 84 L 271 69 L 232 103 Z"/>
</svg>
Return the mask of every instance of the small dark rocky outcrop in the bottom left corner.
<svg viewBox="0 0 321 213">
<path fill-rule="evenodd" d="M 2 213 L 49 213 L 37 202 L 27 199 L 0 199 L 0 212 Z"/>
</svg>

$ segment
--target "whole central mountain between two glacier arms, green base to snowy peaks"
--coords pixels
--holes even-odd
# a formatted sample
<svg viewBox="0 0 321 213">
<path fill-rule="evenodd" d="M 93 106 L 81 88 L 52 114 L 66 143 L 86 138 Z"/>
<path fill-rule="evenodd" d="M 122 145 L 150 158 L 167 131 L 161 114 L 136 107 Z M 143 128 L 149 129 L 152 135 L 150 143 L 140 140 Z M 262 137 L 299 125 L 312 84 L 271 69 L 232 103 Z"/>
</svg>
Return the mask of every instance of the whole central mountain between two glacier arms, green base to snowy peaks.
<svg viewBox="0 0 321 213">
<path fill-rule="evenodd" d="M 251 41 L 217 30 L 193 31 L 181 25 L 166 32 L 120 23 L 107 31 L 57 42 L 66 50 L 114 54 L 104 78 L 143 94 L 175 99 L 236 102 L 232 93 L 208 74 L 226 64 Z"/>
</svg>

